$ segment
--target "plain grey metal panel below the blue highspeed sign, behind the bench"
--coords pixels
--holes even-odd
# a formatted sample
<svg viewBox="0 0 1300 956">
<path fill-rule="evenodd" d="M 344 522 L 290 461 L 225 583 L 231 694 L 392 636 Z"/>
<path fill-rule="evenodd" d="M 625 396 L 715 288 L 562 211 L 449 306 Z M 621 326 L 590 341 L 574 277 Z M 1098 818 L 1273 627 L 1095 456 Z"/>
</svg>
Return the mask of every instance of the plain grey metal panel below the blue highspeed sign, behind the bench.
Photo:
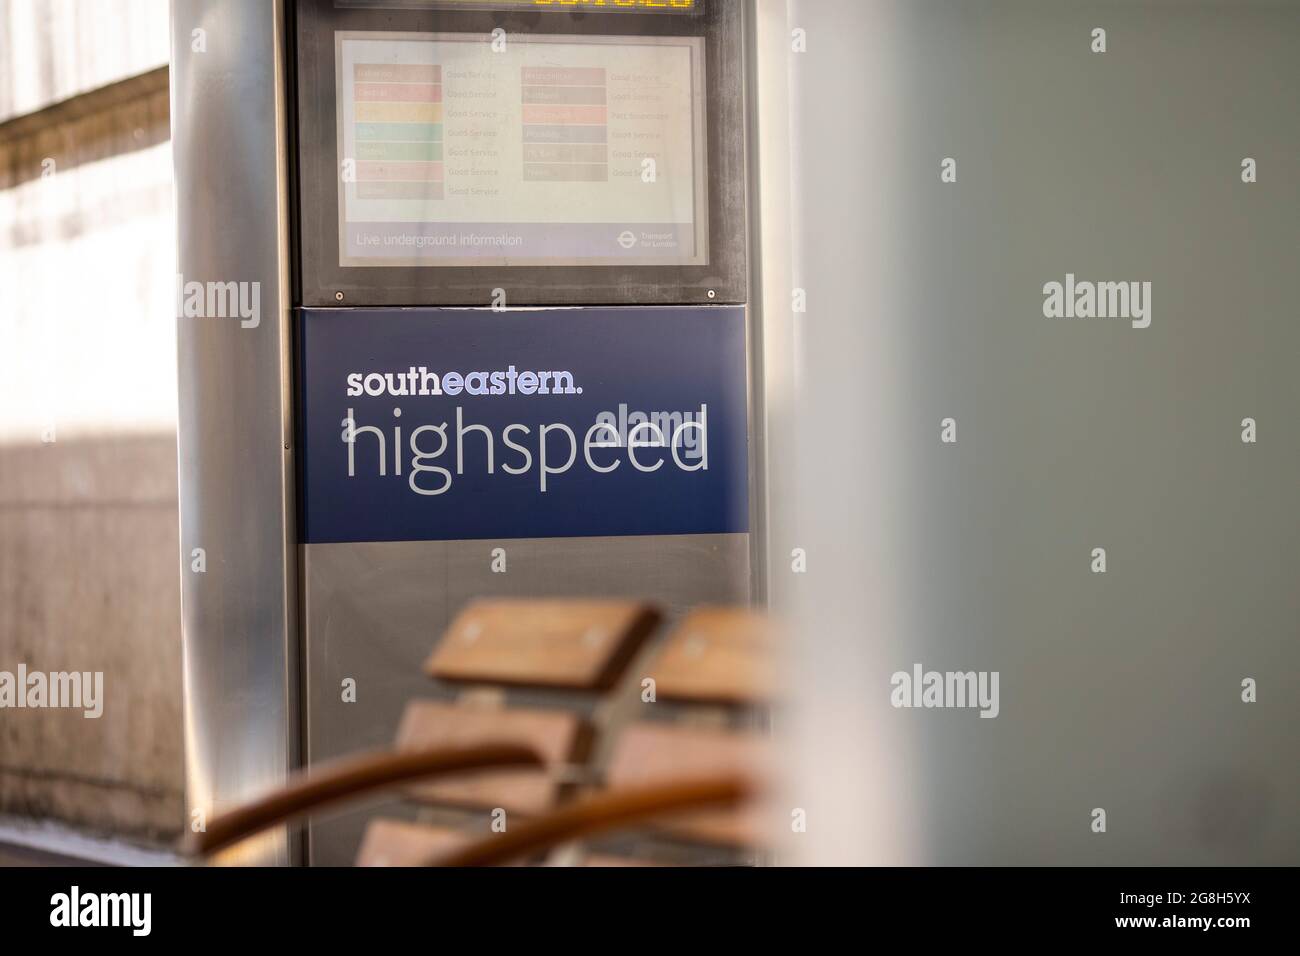
<svg viewBox="0 0 1300 956">
<path fill-rule="evenodd" d="M 491 570 L 506 551 L 506 572 Z M 303 546 L 307 754 L 312 763 L 386 747 L 408 700 L 452 700 L 422 674 L 455 614 L 478 597 L 637 597 L 671 619 L 701 604 L 750 600 L 749 535 L 381 541 Z M 656 641 L 667 627 L 653 639 Z M 653 644 L 649 653 L 654 653 Z M 612 692 L 634 691 L 637 663 Z M 342 682 L 356 680 L 356 701 Z M 589 710 L 590 695 L 512 691 L 510 702 Z M 351 865 L 376 805 L 311 826 L 315 865 Z M 385 816 L 410 817 L 389 801 Z"/>
</svg>

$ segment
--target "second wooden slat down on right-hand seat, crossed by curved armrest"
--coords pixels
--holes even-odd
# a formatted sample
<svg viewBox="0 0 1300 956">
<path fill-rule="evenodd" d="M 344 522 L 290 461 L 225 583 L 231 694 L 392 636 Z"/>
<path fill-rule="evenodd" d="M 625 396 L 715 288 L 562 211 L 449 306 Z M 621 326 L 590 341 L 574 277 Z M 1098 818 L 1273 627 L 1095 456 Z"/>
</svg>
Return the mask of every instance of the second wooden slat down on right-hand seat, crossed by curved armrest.
<svg viewBox="0 0 1300 956">
<path fill-rule="evenodd" d="M 608 787 L 616 790 L 731 771 L 764 778 L 771 760 L 768 748 L 768 741 L 757 734 L 634 723 L 619 737 L 606 779 Z M 755 805 L 664 817 L 654 827 L 727 847 L 766 843 L 762 840 L 760 812 Z"/>
</svg>

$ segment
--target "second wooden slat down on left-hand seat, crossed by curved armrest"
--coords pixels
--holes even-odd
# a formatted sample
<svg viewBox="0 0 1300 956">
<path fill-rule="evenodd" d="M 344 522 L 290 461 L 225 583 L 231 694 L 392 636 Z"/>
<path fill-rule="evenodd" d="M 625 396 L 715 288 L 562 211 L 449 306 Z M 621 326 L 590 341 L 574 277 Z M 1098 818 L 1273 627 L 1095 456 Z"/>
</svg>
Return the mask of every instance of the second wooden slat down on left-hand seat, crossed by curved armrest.
<svg viewBox="0 0 1300 956">
<path fill-rule="evenodd" d="M 563 710 L 498 710 L 411 701 L 398 728 L 398 749 L 469 747 L 508 743 L 532 747 L 546 762 L 542 769 L 484 770 L 416 784 L 420 800 L 455 806 L 497 808 L 524 814 L 543 813 L 559 791 L 551 770 L 580 761 L 589 740 L 586 723 Z"/>
</svg>

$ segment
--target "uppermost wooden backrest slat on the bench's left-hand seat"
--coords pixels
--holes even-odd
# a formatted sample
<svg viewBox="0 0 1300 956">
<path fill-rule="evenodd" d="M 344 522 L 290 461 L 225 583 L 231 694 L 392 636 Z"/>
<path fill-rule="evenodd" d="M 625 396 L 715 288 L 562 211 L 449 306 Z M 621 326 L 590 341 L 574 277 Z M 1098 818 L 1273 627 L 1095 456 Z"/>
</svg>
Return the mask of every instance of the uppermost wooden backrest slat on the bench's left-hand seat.
<svg viewBox="0 0 1300 956">
<path fill-rule="evenodd" d="M 659 622 L 636 601 L 476 601 L 425 663 L 429 676 L 607 689 Z"/>
</svg>

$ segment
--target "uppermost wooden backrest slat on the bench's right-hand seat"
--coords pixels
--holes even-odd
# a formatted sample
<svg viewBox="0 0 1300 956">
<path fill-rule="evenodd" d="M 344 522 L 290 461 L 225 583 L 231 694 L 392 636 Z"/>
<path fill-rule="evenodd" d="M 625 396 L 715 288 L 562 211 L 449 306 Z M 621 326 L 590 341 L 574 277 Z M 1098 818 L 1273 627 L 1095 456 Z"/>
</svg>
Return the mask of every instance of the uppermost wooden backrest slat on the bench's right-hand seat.
<svg viewBox="0 0 1300 956">
<path fill-rule="evenodd" d="M 741 607 L 701 607 L 673 630 L 650 670 L 663 700 L 760 704 L 775 669 L 771 622 Z"/>
</svg>

